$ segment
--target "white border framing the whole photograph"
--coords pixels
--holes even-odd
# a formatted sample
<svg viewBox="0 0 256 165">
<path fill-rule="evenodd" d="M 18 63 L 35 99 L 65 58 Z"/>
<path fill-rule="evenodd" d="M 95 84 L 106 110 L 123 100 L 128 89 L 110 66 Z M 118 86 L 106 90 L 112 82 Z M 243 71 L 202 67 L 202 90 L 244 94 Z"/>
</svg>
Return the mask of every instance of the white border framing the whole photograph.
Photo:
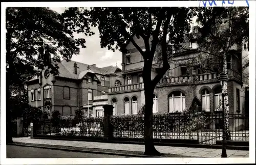
<svg viewBox="0 0 256 165">
<path fill-rule="evenodd" d="M 227 1 L 226 1 L 227 2 Z M 6 158 L 6 51 L 5 51 L 5 9 L 6 7 L 199 7 L 200 1 L 148 1 L 148 2 L 15 2 L 1 3 L 1 164 L 170 164 L 170 163 L 255 163 L 255 1 L 249 1 L 249 113 L 250 113 L 250 158 L 47 158 L 7 159 Z M 222 6 L 222 1 L 216 1 Z M 247 6 L 245 1 L 234 1 L 223 6 Z M 125 159 L 125 160 L 124 160 Z"/>
</svg>

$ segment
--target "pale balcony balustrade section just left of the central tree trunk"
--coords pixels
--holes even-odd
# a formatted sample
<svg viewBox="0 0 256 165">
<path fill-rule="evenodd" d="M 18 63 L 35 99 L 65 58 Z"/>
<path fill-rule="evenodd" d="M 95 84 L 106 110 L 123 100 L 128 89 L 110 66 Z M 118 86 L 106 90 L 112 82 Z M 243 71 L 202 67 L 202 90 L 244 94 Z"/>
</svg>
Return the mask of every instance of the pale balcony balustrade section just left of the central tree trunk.
<svg viewBox="0 0 256 165">
<path fill-rule="evenodd" d="M 112 88 L 109 88 L 109 93 L 130 92 L 130 91 L 136 91 L 136 90 L 142 90 L 142 89 L 144 89 L 143 82 L 138 84 L 112 87 Z"/>
</svg>

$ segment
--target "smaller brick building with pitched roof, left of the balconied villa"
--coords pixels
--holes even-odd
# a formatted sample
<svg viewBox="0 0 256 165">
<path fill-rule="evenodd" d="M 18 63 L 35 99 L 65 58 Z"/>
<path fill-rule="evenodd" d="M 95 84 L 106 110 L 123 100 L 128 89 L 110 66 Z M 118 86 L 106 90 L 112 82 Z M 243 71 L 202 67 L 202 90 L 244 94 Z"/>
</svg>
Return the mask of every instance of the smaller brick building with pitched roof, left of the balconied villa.
<svg viewBox="0 0 256 165">
<path fill-rule="evenodd" d="M 29 104 L 41 107 L 42 111 L 59 111 L 63 116 L 74 115 L 78 108 L 92 116 L 102 115 L 103 108 L 93 104 L 93 100 L 102 100 L 108 94 L 115 75 L 120 68 L 108 66 L 98 68 L 65 60 L 58 63 L 58 76 L 53 76 L 45 67 L 41 74 L 30 79 L 28 84 Z M 41 75 L 41 76 L 40 76 Z M 100 97 L 97 97 L 100 96 Z M 106 95 L 107 96 L 107 95 Z"/>
</svg>

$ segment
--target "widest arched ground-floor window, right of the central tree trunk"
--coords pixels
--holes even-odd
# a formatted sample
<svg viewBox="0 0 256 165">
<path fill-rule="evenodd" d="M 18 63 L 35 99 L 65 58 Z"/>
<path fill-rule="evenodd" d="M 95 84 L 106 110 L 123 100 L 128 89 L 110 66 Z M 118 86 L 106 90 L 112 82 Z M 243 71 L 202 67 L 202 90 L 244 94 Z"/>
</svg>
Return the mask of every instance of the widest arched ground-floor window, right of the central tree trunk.
<svg viewBox="0 0 256 165">
<path fill-rule="evenodd" d="M 169 95 L 169 113 L 182 112 L 186 108 L 185 94 L 179 91 Z"/>
</svg>

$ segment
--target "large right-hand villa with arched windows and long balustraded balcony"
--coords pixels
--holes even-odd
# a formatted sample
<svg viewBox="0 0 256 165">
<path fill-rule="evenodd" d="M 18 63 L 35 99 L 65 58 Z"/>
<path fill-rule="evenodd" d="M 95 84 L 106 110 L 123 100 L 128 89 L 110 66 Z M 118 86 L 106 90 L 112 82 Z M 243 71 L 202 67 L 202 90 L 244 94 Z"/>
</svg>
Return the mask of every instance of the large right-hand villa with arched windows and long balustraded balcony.
<svg viewBox="0 0 256 165">
<path fill-rule="evenodd" d="M 196 35 L 198 26 L 194 27 L 193 33 Z M 144 48 L 143 39 L 134 37 L 135 42 L 142 50 Z M 191 54 L 195 56 L 197 40 L 185 39 L 182 44 L 183 49 L 176 51 L 173 47 L 172 60 L 170 60 L 170 69 L 160 80 L 154 91 L 153 113 L 177 113 L 188 108 L 195 96 L 202 103 L 202 110 L 214 113 L 220 106 L 222 98 L 222 87 L 218 80 L 219 73 L 203 72 L 200 64 L 193 68 L 182 66 L 186 64 Z M 242 82 L 242 59 L 241 48 L 234 48 L 228 57 L 227 69 L 229 80 L 227 90 L 229 96 L 229 111 L 233 114 L 242 114 L 244 112 L 243 97 L 241 91 Z M 142 79 L 143 58 L 140 52 L 135 48 L 132 42 L 127 42 L 122 51 L 122 85 L 111 87 L 109 89 L 109 104 L 114 105 L 117 114 L 136 114 L 139 108 L 145 103 L 144 85 Z M 152 79 L 157 74 L 157 60 L 153 62 Z"/>
</svg>

